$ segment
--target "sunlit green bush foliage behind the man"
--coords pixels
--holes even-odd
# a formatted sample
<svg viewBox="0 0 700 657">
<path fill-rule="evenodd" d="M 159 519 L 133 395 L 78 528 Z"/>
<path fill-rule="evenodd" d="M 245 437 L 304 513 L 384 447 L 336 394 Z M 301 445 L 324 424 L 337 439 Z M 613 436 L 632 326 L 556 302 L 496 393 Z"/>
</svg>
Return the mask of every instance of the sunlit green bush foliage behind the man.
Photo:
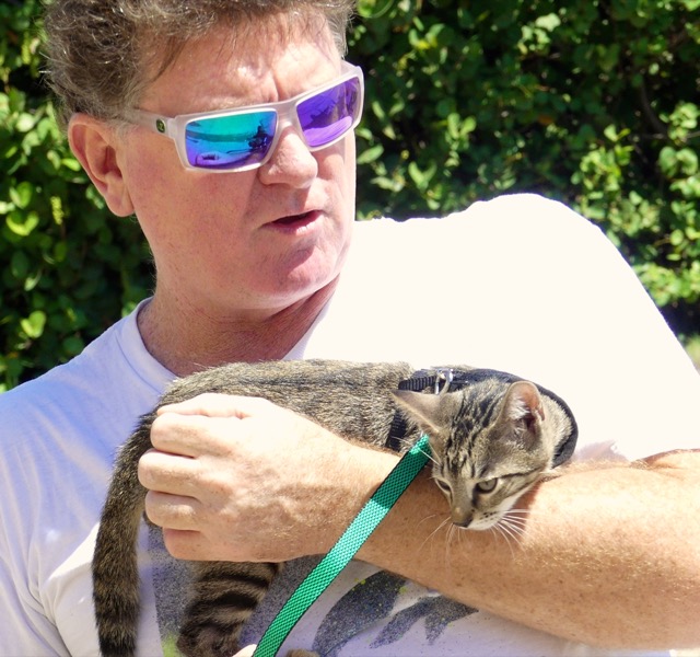
<svg viewBox="0 0 700 657">
<path fill-rule="evenodd" d="M 4 387 L 78 353 L 152 278 L 136 222 L 109 216 L 55 126 L 39 13 L 0 4 Z M 699 16 L 700 0 L 361 0 L 360 217 L 559 198 L 700 331 Z"/>
</svg>

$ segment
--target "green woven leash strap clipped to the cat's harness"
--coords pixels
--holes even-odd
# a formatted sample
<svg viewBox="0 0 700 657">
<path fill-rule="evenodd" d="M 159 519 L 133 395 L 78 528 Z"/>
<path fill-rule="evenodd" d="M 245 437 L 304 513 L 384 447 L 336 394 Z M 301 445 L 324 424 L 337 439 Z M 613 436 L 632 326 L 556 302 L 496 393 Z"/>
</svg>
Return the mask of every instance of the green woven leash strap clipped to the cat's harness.
<svg viewBox="0 0 700 657">
<path fill-rule="evenodd" d="M 284 607 L 270 623 L 262 635 L 253 657 L 275 657 L 292 627 L 304 612 L 323 593 L 330 583 L 338 576 L 350 560 L 357 554 L 370 534 L 382 522 L 396 500 L 406 491 L 416 475 L 421 471 L 430 458 L 428 436 L 423 435 L 412 449 L 401 457 L 401 460 L 382 482 L 371 499 L 355 516 L 338 542 L 324 556 L 318 565 L 299 585 Z"/>
</svg>

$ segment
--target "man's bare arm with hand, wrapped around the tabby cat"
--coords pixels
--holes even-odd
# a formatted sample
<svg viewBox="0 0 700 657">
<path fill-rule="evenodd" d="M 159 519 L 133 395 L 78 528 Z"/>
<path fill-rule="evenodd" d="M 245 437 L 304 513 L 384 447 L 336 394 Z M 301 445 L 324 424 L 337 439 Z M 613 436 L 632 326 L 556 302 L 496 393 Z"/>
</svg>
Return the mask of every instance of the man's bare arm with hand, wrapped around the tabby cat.
<svg viewBox="0 0 700 657">
<path fill-rule="evenodd" d="M 142 459 L 140 474 L 159 492 L 147 510 L 177 557 L 325 552 L 397 460 L 262 400 L 203 395 L 170 411 L 154 424 L 159 451 Z M 572 641 L 700 645 L 700 452 L 573 466 L 522 508 L 517 542 L 456 533 L 443 525 L 446 502 L 423 472 L 359 557 Z"/>
</svg>

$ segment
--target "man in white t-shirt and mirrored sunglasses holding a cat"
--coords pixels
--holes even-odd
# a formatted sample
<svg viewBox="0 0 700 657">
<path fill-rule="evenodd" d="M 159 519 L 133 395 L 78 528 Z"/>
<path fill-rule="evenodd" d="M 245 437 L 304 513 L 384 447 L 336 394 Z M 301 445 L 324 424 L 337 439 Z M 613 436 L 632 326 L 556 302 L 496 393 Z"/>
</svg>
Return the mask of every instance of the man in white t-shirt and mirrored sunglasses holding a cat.
<svg viewBox="0 0 700 657">
<path fill-rule="evenodd" d="M 446 530 L 442 494 L 419 477 L 285 646 L 700 644 L 700 381 L 617 252 L 527 196 L 353 227 L 362 79 L 340 58 L 348 4 L 194 4 L 49 10 L 71 147 L 113 212 L 137 216 L 156 287 L 77 359 L 0 397 L 0 654 L 96 653 L 90 558 L 112 459 L 168 380 L 306 357 L 532 378 L 572 406 L 585 464 L 526 498 L 515 544 Z M 252 644 L 397 460 L 220 395 L 163 413 L 152 441 L 140 476 L 173 556 L 295 560 L 244 631 Z M 160 532 L 141 539 L 139 649 L 151 655 L 176 633 L 182 564 Z"/>
</svg>

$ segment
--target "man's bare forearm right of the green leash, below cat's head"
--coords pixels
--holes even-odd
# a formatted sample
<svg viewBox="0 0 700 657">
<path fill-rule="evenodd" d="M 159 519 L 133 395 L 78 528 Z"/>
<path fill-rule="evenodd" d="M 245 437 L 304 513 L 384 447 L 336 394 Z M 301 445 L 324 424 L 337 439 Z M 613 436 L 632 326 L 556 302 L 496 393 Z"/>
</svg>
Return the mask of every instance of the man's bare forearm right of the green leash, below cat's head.
<svg viewBox="0 0 700 657">
<path fill-rule="evenodd" d="M 574 466 L 575 468 L 575 466 Z M 471 607 L 606 647 L 700 645 L 700 452 L 573 470 L 525 498 L 522 537 L 441 527 L 428 472 L 360 557 Z"/>
</svg>

